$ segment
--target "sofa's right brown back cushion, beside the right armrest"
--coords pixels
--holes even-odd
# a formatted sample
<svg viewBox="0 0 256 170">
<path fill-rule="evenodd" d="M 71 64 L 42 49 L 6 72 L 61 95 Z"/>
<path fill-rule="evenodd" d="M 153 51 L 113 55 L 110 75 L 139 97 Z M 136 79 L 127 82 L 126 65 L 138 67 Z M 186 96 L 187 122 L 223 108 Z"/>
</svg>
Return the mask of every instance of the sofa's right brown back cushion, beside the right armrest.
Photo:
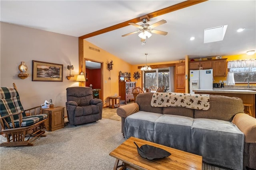
<svg viewBox="0 0 256 170">
<path fill-rule="evenodd" d="M 243 101 L 238 97 L 210 95 L 210 102 L 209 110 L 194 110 L 194 118 L 232 121 L 234 115 L 244 112 Z"/>
</svg>

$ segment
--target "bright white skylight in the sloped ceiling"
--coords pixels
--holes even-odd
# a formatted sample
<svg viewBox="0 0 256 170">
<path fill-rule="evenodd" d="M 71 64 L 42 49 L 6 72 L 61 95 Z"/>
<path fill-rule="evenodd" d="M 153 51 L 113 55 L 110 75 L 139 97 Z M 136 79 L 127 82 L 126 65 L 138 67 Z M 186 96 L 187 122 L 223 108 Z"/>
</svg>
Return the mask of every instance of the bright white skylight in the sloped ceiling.
<svg viewBox="0 0 256 170">
<path fill-rule="evenodd" d="M 204 30 L 204 43 L 218 42 L 224 39 L 228 25 L 208 28 Z"/>
</svg>

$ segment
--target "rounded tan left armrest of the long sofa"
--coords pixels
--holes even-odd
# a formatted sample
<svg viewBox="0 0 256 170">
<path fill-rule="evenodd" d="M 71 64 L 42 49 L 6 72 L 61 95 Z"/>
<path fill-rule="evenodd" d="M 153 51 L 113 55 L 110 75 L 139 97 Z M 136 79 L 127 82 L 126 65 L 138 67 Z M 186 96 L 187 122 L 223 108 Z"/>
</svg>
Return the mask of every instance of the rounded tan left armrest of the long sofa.
<svg viewBox="0 0 256 170">
<path fill-rule="evenodd" d="M 140 107 L 138 103 L 132 103 L 129 105 L 118 107 L 116 110 L 116 113 L 120 117 L 128 117 L 129 115 L 132 115 L 133 113 L 136 113 L 139 110 L 140 110 Z"/>
</svg>

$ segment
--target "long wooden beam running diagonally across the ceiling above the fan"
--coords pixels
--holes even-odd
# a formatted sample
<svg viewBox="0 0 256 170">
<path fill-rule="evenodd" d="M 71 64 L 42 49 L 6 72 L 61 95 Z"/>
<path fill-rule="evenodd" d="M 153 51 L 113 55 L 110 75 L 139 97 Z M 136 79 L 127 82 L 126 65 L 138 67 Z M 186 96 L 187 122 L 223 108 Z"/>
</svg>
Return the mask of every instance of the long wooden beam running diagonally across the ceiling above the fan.
<svg viewBox="0 0 256 170">
<path fill-rule="evenodd" d="M 173 11 L 176 11 L 176 10 L 180 10 L 182 8 L 186 8 L 188 6 L 199 4 L 199 3 L 205 2 L 205 1 L 208 1 L 208 0 L 187 0 L 187 1 L 175 4 L 175 5 L 163 8 L 161 10 L 151 12 L 151 13 L 146 14 L 146 15 L 148 15 L 149 18 L 154 18 L 154 17 L 160 16 L 160 15 L 167 14 L 169 12 L 173 12 Z M 114 26 L 110 26 L 110 27 L 107 27 L 107 28 L 104 28 L 104 29 L 86 34 L 84 36 L 80 36 L 79 38 L 80 39 L 86 39 L 86 38 L 97 36 L 97 35 L 100 35 L 100 34 L 103 34 L 103 33 L 106 33 L 106 32 L 110 32 L 110 31 L 113 31 L 113 30 L 116 30 L 116 29 L 119 29 L 119 28 L 123 28 L 125 26 L 129 26 L 130 24 L 128 24 L 128 23 L 130 23 L 130 22 L 138 23 L 138 22 L 141 22 L 141 19 L 140 19 L 140 17 L 137 17 L 137 18 L 134 18 L 132 20 L 128 20 L 126 22 L 122 22 L 120 24 L 116 24 Z"/>
</svg>

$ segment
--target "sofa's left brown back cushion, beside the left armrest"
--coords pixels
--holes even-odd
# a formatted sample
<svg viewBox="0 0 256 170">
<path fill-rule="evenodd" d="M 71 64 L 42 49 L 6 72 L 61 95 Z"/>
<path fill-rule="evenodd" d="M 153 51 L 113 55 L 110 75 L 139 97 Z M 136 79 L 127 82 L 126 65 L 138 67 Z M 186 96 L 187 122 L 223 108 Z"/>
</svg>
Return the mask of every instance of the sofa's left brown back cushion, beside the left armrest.
<svg viewBox="0 0 256 170">
<path fill-rule="evenodd" d="M 151 99 L 152 99 L 153 93 L 140 93 L 136 97 L 136 102 L 138 103 L 140 107 L 140 111 L 145 112 L 154 112 L 154 113 L 163 113 L 162 107 L 152 107 L 151 106 Z"/>
</svg>

